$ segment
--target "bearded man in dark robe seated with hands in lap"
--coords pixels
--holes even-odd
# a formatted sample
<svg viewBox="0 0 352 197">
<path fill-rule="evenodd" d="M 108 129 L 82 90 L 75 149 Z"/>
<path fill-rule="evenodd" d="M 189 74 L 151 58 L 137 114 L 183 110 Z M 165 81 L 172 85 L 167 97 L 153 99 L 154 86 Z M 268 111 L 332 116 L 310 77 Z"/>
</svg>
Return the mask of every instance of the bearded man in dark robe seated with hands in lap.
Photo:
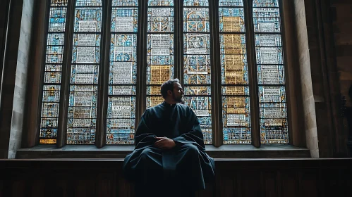
<svg viewBox="0 0 352 197">
<path fill-rule="evenodd" d="M 197 116 L 180 104 L 179 80 L 164 82 L 161 92 L 164 102 L 142 115 L 123 172 L 136 196 L 194 196 L 214 179 L 214 160 L 205 153 Z"/>
</svg>

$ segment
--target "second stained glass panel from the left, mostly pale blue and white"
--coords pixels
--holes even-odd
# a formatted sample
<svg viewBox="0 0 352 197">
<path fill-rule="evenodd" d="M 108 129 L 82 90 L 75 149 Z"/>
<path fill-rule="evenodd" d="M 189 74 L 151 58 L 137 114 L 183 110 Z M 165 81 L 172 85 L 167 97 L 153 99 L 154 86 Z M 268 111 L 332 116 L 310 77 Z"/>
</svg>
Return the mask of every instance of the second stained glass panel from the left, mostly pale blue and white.
<svg viewBox="0 0 352 197">
<path fill-rule="evenodd" d="M 95 144 L 101 31 L 102 1 L 77 0 L 67 144 Z"/>
</svg>

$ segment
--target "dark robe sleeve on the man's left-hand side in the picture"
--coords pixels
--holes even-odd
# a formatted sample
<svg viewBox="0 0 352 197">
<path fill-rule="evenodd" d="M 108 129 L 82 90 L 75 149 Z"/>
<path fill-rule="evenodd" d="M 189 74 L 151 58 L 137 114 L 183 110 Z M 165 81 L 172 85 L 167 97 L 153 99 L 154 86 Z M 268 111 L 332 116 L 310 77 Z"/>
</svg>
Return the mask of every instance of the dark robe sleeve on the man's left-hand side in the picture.
<svg viewBox="0 0 352 197">
<path fill-rule="evenodd" d="M 135 149 L 152 146 L 157 141 L 156 135 L 150 129 L 150 124 L 148 110 L 145 110 L 135 131 Z"/>
</svg>

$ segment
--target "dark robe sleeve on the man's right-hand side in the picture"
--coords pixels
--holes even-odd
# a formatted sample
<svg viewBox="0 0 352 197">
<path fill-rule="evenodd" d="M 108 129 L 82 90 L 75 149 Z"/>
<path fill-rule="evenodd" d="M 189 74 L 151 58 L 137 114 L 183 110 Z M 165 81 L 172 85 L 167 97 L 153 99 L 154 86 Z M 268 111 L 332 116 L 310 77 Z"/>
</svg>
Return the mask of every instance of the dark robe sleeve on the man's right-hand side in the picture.
<svg viewBox="0 0 352 197">
<path fill-rule="evenodd" d="M 200 122 L 192 109 L 188 108 L 188 122 L 186 132 L 173 139 L 176 146 L 182 144 L 193 144 L 198 146 L 200 150 L 205 150 L 202 130 L 200 129 Z"/>
</svg>

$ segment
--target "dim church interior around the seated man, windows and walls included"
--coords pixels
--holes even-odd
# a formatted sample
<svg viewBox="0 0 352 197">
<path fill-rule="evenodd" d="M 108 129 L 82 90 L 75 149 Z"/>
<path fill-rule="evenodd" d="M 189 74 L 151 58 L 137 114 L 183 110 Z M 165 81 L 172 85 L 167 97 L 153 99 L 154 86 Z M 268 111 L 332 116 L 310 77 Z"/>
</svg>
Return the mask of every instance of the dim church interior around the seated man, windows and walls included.
<svg viewBox="0 0 352 197">
<path fill-rule="evenodd" d="M 215 160 L 196 196 L 351 196 L 351 63 L 351 0 L 1 0 L 0 197 L 135 196 L 175 78 Z"/>
</svg>

